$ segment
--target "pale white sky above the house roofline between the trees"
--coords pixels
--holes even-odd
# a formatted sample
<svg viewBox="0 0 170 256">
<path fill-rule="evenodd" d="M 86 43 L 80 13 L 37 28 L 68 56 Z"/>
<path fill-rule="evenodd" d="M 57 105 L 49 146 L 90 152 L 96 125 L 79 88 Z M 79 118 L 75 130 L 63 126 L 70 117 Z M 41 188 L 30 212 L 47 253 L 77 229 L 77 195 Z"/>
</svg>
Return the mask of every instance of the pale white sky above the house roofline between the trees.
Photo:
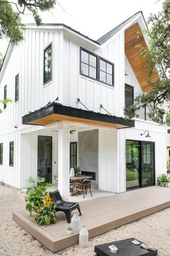
<svg viewBox="0 0 170 256">
<path fill-rule="evenodd" d="M 42 22 L 65 23 L 94 40 L 112 30 L 138 11 L 146 20 L 151 13 L 161 11 L 163 0 L 58 0 L 55 9 L 41 13 Z M 30 15 L 22 17 L 25 23 L 35 23 Z M 8 40 L 0 40 L 4 55 Z"/>
</svg>

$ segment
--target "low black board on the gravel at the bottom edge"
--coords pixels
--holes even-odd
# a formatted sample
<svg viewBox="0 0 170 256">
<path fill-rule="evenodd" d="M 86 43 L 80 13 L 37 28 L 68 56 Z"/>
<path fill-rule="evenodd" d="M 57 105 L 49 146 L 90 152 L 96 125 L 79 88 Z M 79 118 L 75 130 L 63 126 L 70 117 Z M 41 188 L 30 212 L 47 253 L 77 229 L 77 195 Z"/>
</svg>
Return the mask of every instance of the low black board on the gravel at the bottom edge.
<svg viewBox="0 0 170 256">
<path fill-rule="evenodd" d="M 139 245 L 132 244 L 131 241 L 133 241 L 135 238 L 130 238 L 130 239 L 125 239 L 125 240 L 120 240 L 117 242 L 111 242 L 107 244 L 99 244 L 94 247 L 94 252 L 97 253 L 99 256 L 142 256 L 142 255 L 148 255 L 148 256 L 154 256 L 157 255 L 158 250 L 156 249 L 155 251 L 149 251 L 148 249 L 143 249 L 140 248 L 141 242 Z M 119 252 L 117 253 L 112 253 L 110 249 L 108 248 L 109 245 L 114 244 L 117 249 L 119 249 Z"/>
</svg>

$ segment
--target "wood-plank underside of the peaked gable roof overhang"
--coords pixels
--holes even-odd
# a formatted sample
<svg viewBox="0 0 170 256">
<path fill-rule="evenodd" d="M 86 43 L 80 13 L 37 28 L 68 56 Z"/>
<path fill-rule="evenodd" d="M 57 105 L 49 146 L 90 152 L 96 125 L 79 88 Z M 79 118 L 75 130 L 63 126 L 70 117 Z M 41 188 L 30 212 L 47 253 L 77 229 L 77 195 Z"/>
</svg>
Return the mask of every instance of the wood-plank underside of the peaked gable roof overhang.
<svg viewBox="0 0 170 256">
<path fill-rule="evenodd" d="M 147 47 L 138 23 L 135 23 L 125 30 L 125 54 L 143 93 L 145 93 L 152 89 L 147 81 L 155 82 L 158 80 L 158 73 L 152 74 L 151 77 L 148 76 L 145 69 L 146 60 L 140 56 L 138 45 Z"/>
</svg>

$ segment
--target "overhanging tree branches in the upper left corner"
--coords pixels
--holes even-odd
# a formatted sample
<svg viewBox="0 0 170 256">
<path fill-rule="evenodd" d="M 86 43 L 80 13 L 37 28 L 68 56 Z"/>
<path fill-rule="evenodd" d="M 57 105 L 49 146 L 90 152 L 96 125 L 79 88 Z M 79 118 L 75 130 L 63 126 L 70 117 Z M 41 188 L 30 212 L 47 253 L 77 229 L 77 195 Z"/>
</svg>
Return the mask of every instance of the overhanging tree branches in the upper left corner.
<svg viewBox="0 0 170 256">
<path fill-rule="evenodd" d="M 42 20 L 38 12 L 52 9 L 54 5 L 55 0 L 1 0 L 0 38 L 7 37 L 12 43 L 18 43 L 23 39 L 22 32 L 24 30 L 20 15 L 25 14 L 27 9 L 34 17 L 36 24 L 40 25 Z"/>
</svg>

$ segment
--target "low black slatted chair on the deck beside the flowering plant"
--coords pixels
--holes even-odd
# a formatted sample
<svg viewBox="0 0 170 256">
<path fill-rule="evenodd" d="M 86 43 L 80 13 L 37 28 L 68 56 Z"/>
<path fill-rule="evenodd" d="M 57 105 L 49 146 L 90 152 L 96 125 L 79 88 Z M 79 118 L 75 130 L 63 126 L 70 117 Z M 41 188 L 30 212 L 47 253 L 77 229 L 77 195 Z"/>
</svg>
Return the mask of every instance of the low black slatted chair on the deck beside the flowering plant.
<svg viewBox="0 0 170 256">
<path fill-rule="evenodd" d="M 56 211 L 61 211 L 66 214 L 67 222 L 71 223 L 71 211 L 78 209 L 79 213 L 81 215 L 81 210 L 78 202 L 66 202 L 61 197 L 61 194 L 58 190 L 55 190 L 54 192 L 50 192 L 50 197 L 53 200 L 53 204 L 57 205 L 55 208 Z"/>
</svg>

